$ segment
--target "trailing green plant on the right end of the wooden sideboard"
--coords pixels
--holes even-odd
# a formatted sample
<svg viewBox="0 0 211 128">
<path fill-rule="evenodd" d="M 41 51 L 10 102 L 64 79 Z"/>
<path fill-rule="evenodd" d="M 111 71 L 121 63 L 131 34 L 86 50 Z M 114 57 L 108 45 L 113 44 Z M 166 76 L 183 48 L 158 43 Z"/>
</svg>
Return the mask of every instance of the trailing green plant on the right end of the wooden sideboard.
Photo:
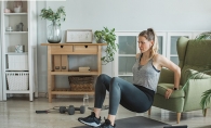
<svg viewBox="0 0 211 128">
<path fill-rule="evenodd" d="M 107 43 L 107 47 L 105 49 L 106 55 L 101 59 L 103 64 L 113 62 L 115 52 L 118 49 L 118 44 L 115 43 L 115 28 L 109 30 L 107 27 L 104 27 L 104 29 L 102 30 L 94 31 L 94 37 L 97 43 Z"/>
</svg>

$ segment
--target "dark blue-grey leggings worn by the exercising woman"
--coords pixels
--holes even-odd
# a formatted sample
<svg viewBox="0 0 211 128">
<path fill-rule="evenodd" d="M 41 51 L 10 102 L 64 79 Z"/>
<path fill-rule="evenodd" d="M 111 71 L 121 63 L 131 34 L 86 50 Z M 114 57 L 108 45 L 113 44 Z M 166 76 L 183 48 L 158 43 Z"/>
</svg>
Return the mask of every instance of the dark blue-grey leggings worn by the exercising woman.
<svg viewBox="0 0 211 128">
<path fill-rule="evenodd" d="M 135 86 L 119 77 L 109 77 L 102 74 L 97 77 L 95 85 L 94 107 L 102 108 L 106 90 L 109 91 L 109 114 L 116 115 L 118 105 L 127 110 L 143 113 L 150 108 L 155 91 Z"/>
</svg>

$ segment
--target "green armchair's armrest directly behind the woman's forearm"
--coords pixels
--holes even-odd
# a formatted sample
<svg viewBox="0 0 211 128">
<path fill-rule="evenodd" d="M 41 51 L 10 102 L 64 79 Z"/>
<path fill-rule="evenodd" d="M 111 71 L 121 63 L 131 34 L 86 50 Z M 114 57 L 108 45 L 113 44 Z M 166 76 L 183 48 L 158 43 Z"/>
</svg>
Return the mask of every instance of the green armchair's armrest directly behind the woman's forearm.
<svg viewBox="0 0 211 128">
<path fill-rule="evenodd" d="M 168 68 L 162 68 L 160 73 L 159 84 L 173 84 L 174 73 Z"/>
</svg>

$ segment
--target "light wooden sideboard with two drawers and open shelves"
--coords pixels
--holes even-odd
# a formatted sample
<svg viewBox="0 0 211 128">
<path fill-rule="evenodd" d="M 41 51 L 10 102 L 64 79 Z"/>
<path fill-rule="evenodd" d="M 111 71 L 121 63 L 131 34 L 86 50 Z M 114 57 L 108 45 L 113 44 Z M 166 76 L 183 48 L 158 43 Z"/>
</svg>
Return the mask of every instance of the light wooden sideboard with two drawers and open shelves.
<svg viewBox="0 0 211 128">
<path fill-rule="evenodd" d="M 55 75 L 93 75 L 98 76 L 102 74 L 102 47 L 106 43 L 41 43 L 41 46 L 48 47 L 48 94 L 49 102 L 52 102 L 52 98 L 56 94 L 94 94 L 94 91 L 70 91 L 70 88 L 56 88 Z M 91 72 L 55 72 L 53 68 L 54 55 L 96 55 L 97 69 Z M 94 62 L 93 62 L 94 63 Z"/>
</svg>

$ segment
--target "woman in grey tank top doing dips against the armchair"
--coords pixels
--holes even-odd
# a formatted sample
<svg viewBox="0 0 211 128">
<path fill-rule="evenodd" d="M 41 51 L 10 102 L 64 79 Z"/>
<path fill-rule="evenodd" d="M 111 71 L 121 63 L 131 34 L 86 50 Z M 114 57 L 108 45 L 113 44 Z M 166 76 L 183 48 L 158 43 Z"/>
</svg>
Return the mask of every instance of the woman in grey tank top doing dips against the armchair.
<svg viewBox="0 0 211 128">
<path fill-rule="evenodd" d="M 115 128 L 115 117 L 119 104 L 136 113 L 148 111 L 154 101 L 162 67 L 174 72 L 174 89 L 167 89 L 166 99 L 169 99 L 173 90 L 179 89 L 181 69 L 170 60 L 157 53 L 158 41 L 153 28 L 140 33 L 139 48 L 141 53 L 136 55 L 136 62 L 132 67 L 133 84 L 118 77 L 110 78 L 104 74 L 100 75 L 95 85 L 94 112 L 88 117 L 78 118 L 80 123 L 93 127 L 100 126 L 100 128 Z M 101 124 L 100 113 L 106 90 L 109 91 L 109 111 L 107 119 Z"/>
</svg>

